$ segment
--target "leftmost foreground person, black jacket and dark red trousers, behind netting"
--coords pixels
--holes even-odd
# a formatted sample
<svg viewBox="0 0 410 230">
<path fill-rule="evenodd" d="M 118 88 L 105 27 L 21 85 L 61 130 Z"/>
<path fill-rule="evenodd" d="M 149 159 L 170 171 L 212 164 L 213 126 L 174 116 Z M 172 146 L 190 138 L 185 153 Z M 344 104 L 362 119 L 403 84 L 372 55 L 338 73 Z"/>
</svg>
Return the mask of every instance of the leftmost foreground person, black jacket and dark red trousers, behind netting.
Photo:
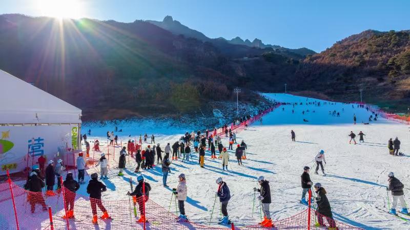
<svg viewBox="0 0 410 230">
<path fill-rule="evenodd" d="M 34 213 L 35 205 L 37 203 L 43 206 L 43 211 L 47 211 L 46 202 L 44 201 L 42 194 L 42 188 L 44 186 L 45 184 L 43 180 L 40 180 L 35 172 L 31 172 L 30 179 L 24 186 L 25 190 L 30 191 L 30 193 L 27 194 L 27 200 L 29 201 L 31 206 L 31 213 Z"/>
</svg>

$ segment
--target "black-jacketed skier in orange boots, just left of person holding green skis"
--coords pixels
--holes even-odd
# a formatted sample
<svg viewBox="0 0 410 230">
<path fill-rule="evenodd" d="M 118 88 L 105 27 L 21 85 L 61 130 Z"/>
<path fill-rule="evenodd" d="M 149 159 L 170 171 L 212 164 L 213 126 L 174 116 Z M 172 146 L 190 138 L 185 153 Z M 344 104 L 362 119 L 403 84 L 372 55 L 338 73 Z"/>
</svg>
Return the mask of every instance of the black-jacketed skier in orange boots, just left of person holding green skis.
<svg viewBox="0 0 410 230">
<path fill-rule="evenodd" d="M 88 182 L 87 185 L 87 193 L 90 194 L 90 205 L 93 213 L 93 224 L 97 224 L 97 206 L 99 210 L 103 212 L 103 216 L 100 217 L 101 219 L 110 218 L 106 208 L 103 205 L 103 202 L 101 202 L 101 192 L 105 191 L 107 191 L 107 187 L 106 185 L 98 181 L 98 174 L 91 174 L 91 180 Z"/>
</svg>

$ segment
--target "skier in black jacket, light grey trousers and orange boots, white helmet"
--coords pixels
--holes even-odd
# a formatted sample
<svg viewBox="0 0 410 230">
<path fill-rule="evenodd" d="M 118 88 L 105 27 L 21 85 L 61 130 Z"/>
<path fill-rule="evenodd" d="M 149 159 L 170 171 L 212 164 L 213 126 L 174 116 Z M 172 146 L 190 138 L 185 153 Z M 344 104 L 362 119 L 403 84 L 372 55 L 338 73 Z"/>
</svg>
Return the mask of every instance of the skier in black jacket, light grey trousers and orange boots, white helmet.
<svg viewBox="0 0 410 230">
<path fill-rule="evenodd" d="M 271 219 L 271 212 L 269 211 L 269 205 L 271 204 L 271 186 L 269 186 L 269 181 L 265 180 L 263 176 L 258 178 L 258 183 L 260 185 L 260 189 L 253 188 L 253 191 L 257 191 L 260 193 L 258 196 L 258 200 L 262 205 L 262 212 L 263 212 L 263 221 L 259 224 L 263 227 L 272 227 L 272 219 Z"/>
</svg>

